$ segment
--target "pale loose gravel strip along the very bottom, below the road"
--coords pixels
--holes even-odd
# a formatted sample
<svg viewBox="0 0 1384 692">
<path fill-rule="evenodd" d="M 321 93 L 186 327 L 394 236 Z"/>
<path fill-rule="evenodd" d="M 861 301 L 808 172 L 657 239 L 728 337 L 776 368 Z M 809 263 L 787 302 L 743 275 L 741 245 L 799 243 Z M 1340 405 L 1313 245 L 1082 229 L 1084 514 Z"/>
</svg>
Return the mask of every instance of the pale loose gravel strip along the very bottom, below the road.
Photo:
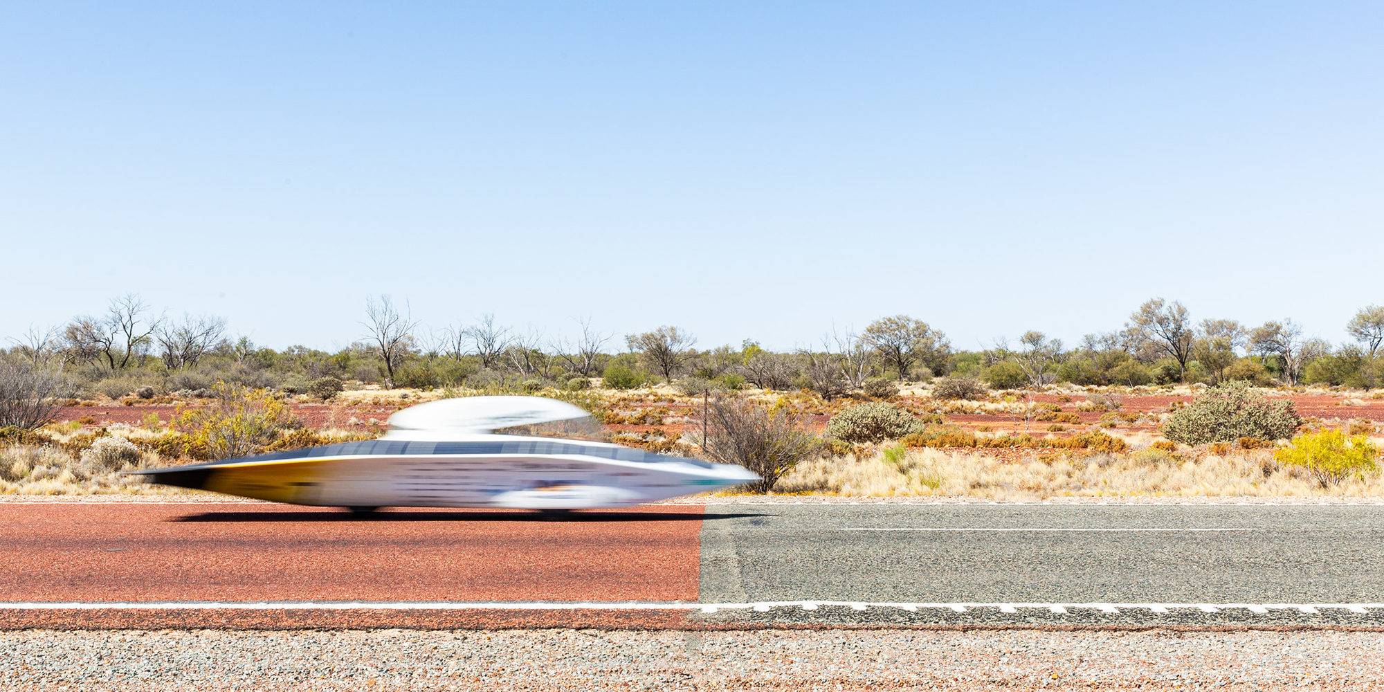
<svg viewBox="0 0 1384 692">
<path fill-rule="evenodd" d="M 1373 632 L 25 631 L 0 688 L 1369 689 Z"/>
</svg>

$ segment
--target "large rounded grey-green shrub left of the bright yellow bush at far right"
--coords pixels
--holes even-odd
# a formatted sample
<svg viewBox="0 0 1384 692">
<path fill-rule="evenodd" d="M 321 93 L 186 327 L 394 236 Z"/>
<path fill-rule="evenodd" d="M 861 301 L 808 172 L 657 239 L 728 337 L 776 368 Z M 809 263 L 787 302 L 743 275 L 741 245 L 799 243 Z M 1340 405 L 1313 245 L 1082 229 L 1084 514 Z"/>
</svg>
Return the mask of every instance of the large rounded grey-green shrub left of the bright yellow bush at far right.
<svg viewBox="0 0 1384 692">
<path fill-rule="evenodd" d="M 1293 401 L 1269 399 L 1247 382 L 1226 382 L 1208 389 L 1163 424 L 1163 435 L 1182 444 L 1235 441 L 1240 437 L 1282 440 L 1302 425 Z"/>
</svg>

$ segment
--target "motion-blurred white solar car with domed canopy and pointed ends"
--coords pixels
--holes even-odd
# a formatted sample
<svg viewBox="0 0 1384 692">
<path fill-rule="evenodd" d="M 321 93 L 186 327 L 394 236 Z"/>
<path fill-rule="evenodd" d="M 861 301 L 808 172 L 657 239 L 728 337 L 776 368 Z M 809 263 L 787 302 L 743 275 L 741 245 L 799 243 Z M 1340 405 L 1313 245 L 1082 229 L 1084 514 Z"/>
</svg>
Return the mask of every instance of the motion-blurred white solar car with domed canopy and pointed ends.
<svg viewBox="0 0 1384 692">
<path fill-rule="evenodd" d="M 443 399 L 389 417 L 378 440 L 143 469 L 152 483 L 298 505 L 630 507 L 758 480 L 732 464 L 595 441 L 581 408 L 533 396 Z"/>
</svg>

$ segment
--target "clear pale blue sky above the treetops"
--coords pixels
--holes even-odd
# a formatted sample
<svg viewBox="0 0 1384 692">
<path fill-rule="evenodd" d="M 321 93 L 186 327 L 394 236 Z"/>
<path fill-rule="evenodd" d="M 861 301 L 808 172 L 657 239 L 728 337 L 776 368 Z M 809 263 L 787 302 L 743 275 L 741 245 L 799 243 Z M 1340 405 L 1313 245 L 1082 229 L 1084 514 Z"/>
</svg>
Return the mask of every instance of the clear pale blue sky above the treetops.
<svg viewBox="0 0 1384 692">
<path fill-rule="evenodd" d="M 0 335 L 137 292 L 1070 342 L 1384 303 L 1378 3 L 7 3 Z"/>
</svg>

